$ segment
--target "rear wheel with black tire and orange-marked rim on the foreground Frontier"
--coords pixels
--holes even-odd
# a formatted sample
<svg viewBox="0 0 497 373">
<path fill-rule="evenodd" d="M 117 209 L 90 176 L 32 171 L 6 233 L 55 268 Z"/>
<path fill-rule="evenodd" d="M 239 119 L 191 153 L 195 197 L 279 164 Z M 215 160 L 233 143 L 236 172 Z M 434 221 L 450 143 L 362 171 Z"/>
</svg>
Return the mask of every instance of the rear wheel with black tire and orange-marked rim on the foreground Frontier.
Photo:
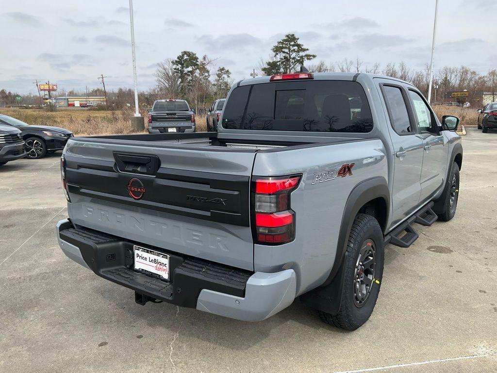
<svg viewBox="0 0 497 373">
<path fill-rule="evenodd" d="M 371 316 L 383 276 L 384 237 L 378 221 L 371 215 L 355 217 L 343 260 L 344 280 L 337 314 L 318 311 L 327 324 L 355 330 Z"/>
</svg>

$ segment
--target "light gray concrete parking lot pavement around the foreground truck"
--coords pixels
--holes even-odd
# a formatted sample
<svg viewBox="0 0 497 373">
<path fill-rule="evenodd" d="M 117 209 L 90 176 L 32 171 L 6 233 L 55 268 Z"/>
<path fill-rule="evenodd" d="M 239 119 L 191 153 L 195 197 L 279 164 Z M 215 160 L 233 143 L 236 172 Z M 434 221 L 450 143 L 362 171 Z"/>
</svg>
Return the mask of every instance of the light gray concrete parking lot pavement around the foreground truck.
<svg viewBox="0 0 497 373">
<path fill-rule="evenodd" d="M 354 332 L 298 300 L 247 323 L 140 306 L 59 249 L 60 153 L 0 169 L 0 372 L 496 372 L 497 132 L 468 130 L 456 216 L 388 245 L 380 297 Z M 421 364 L 417 364 L 421 363 Z"/>
</svg>

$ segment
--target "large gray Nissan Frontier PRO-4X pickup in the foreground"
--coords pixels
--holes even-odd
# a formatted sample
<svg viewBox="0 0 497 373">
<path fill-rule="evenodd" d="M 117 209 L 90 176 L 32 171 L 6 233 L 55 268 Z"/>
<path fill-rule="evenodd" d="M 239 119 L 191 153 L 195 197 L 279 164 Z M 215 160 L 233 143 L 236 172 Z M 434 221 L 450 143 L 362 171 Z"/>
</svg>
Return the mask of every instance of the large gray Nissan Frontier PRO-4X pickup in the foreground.
<svg viewBox="0 0 497 373">
<path fill-rule="evenodd" d="M 300 297 L 353 330 L 375 306 L 385 245 L 454 216 L 458 122 L 385 76 L 243 80 L 217 133 L 71 138 L 59 245 L 142 305 L 258 321 Z"/>
</svg>

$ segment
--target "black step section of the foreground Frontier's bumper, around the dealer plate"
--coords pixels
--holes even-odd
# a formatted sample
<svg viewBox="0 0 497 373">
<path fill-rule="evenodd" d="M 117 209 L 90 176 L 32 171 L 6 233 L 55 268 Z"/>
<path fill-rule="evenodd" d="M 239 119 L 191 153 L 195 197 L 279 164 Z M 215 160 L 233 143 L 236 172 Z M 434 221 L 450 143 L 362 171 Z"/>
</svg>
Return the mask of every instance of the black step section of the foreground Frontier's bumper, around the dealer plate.
<svg viewBox="0 0 497 373">
<path fill-rule="evenodd" d="M 84 262 L 98 276 L 135 290 L 145 304 L 159 299 L 184 307 L 196 307 L 202 289 L 244 297 L 249 271 L 182 256 L 150 245 L 71 224 L 60 227 L 60 238 L 78 247 Z M 147 276 L 133 269 L 133 246 L 145 246 L 169 255 L 170 281 Z M 138 298 L 137 298 L 138 299 Z"/>
</svg>

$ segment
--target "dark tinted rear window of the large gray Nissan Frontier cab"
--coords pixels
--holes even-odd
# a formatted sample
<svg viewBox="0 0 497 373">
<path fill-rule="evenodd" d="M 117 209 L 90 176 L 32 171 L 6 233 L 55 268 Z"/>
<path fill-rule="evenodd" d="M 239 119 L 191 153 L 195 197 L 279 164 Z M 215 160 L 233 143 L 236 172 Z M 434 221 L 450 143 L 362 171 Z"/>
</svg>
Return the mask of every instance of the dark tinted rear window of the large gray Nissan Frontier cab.
<svg viewBox="0 0 497 373">
<path fill-rule="evenodd" d="M 370 132 L 373 119 L 357 82 L 293 81 L 236 88 L 223 127 L 244 130 Z"/>
</svg>

